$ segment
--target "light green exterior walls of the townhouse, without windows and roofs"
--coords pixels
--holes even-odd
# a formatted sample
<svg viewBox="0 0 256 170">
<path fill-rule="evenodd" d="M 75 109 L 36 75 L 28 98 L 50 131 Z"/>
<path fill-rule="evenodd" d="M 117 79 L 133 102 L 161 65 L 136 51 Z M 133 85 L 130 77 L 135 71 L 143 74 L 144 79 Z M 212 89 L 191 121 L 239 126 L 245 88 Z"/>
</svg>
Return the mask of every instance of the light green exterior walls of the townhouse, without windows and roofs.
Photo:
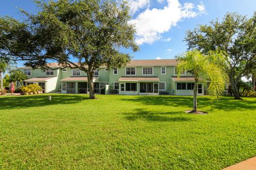
<svg viewBox="0 0 256 170">
<path fill-rule="evenodd" d="M 114 82 L 118 82 L 121 77 L 158 77 L 159 82 L 165 82 L 165 91 L 168 94 L 175 95 L 177 94 L 176 90 L 176 82 L 174 82 L 171 77 L 177 77 L 174 74 L 174 66 L 165 66 L 166 73 L 161 74 L 162 66 L 153 66 L 153 75 L 142 75 L 142 66 L 132 66 L 136 67 L 136 75 L 125 75 L 125 67 L 118 68 L 118 74 L 114 74 L 113 70 L 105 71 L 105 68 L 99 69 L 99 78 L 95 80 L 95 82 L 109 82 L 109 90 L 108 93 L 114 89 Z M 145 66 L 147 67 L 147 66 Z M 151 66 L 148 66 L 151 67 Z M 61 69 L 54 70 L 54 75 L 46 75 L 44 70 L 31 69 L 31 75 L 28 78 L 37 78 L 37 77 L 57 77 L 57 79 L 51 79 L 47 81 L 47 91 L 46 92 L 61 92 L 61 79 L 65 79 L 68 77 L 73 77 L 72 69 L 66 68 L 67 71 L 63 71 Z M 23 72 L 24 68 L 20 67 L 20 71 Z M 81 71 L 81 77 L 86 77 L 86 73 Z M 190 73 L 186 73 L 186 75 L 181 75 L 181 77 L 191 77 Z M 120 83 L 120 82 L 119 82 Z M 139 88 L 139 83 L 137 88 Z M 48 90 L 49 89 L 49 90 Z M 77 91 L 77 83 L 76 83 L 76 91 Z"/>
</svg>

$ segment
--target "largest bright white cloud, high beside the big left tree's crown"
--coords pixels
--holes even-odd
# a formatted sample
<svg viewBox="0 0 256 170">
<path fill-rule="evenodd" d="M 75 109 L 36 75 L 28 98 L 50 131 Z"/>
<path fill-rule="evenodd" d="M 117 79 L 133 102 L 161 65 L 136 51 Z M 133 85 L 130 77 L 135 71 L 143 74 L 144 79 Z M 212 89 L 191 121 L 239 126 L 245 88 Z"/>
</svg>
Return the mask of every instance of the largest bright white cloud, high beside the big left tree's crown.
<svg viewBox="0 0 256 170">
<path fill-rule="evenodd" d="M 141 45 L 144 43 L 152 44 L 161 39 L 161 34 L 167 32 L 171 27 L 177 25 L 177 22 L 185 18 L 193 18 L 202 14 L 202 3 L 195 7 L 192 3 L 185 3 L 183 6 L 178 0 L 167 0 L 167 6 L 162 9 L 147 8 L 138 14 L 137 18 L 130 22 L 135 24 L 136 42 Z M 199 9 L 203 11 L 199 11 Z M 196 11 L 195 11 L 196 10 Z"/>
</svg>

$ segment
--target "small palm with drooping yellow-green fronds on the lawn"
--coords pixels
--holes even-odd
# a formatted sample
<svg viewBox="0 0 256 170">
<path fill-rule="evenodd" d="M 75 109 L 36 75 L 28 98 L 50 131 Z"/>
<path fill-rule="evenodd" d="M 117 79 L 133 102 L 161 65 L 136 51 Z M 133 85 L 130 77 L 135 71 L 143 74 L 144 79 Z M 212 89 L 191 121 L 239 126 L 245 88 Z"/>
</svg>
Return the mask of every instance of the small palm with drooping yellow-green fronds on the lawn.
<svg viewBox="0 0 256 170">
<path fill-rule="evenodd" d="M 197 87 L 199 79 L 210 81 L 207 94 L 218 99 L 222 95 L 228 80 L 225 55 L 219 50 L 204 55 L 198 50 L 186 52 L 178 57 L 178 77 L 182 72 L 190 72 L 195 78 L 193 111 L 197 112 Z"/>
</svg>

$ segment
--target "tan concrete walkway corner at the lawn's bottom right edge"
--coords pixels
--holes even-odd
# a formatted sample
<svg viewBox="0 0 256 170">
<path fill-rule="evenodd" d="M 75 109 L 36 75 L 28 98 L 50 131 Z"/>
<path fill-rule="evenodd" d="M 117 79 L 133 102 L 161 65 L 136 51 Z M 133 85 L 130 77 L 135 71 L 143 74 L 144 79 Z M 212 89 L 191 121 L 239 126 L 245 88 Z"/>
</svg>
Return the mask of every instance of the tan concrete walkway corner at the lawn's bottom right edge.
<svg viewBox="0 0 256 170">
<path fill-rule="evenodd" d="M 222 170 L 256 170 L 256 157 L 244 160 L 241 163 L 226 167 Z"/>
</svg>

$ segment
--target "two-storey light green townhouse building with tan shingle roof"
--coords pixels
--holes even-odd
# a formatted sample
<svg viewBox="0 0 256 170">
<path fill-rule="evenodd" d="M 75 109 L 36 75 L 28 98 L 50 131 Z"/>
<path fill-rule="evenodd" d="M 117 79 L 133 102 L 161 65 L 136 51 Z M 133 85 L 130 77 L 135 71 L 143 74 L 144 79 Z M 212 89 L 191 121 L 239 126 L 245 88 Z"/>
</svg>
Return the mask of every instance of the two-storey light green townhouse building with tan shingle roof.
<svg viewBox="0 0 256 170">
<path fill-rule="evenodd" d="M 89 94 L 86 73 L 79 69 L 59 68 L 49 63 L 51 69 L 18 69 L 28 75 L 27 86 L 37 83 L 45 93 Z M 131 60 L 125 67 L 108 70 L 101 66 L 94 71 L 94 92 L 119 95 L 180 95 L 192 96 L 194 78 L 190 73 L 177 77 L 177 60 Z M 204 95 L 206 83 L 198 85 L 198 95 Z"/>
</svg>

